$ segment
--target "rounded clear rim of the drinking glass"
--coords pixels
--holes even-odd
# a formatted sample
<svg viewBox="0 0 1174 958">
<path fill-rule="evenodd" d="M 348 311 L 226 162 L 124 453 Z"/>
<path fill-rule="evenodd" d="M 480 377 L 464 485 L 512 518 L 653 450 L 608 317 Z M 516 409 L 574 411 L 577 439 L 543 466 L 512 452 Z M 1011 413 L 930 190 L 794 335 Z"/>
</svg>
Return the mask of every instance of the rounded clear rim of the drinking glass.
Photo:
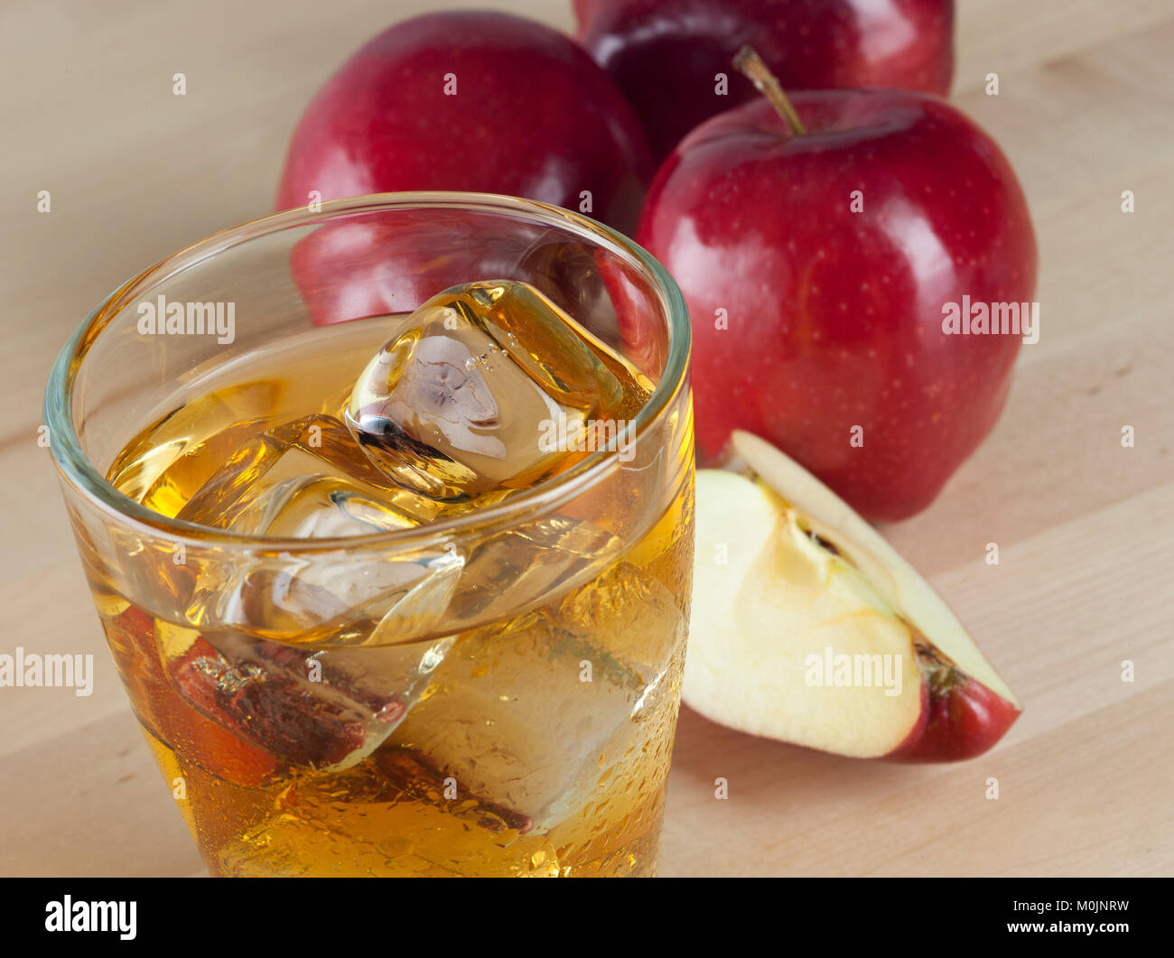
<svg viewBox="0 0 1174 958">
<path fill-rule="evenodd" d="M 470 529 L 481 533 L 499 526 L 512 525 L 517 519 L 538 511 L 546 511 L 592 487 L 618 461 L 616 450 L 599 450 L 585 457 L 572 468 L 549 480 L 512 495 L 501 502 L 473 510 L 439 522 L 426 522 L 405 529 L 373 532 L 323 539 L 290 539 L 248 535 L 231 529 L 202 526 L 183 519 L 163 515 L 119 492 L 82 452 L 73 424 L 74 386 L 89 348 L 96 342 L 110 319 L 133 301 L 149 292 L 156 284 L 190 269 L 204 259 L 234 247 L 299 225 L 340 218 L 345 215 L 376 210 L 406 209 L 467 209 L 481 212 L 501 212 L 528 222 L 546 223 L 578 234 L 596 245 L 608 249 L 646 274 L 662 299 L 668 318 L 668 355 L 656 387 L 640 412 L 627 424 L 629 440 L 639 438 L 657 421 L 672 400 L 683 389 L 689 366 L 690 326 L 684 298 L 676 282 L 656 259 L 635 241 L 582 214 L 526 200 L 491 193 L 413 191 L 378 193 L 331 200 L 321 210 L 310 212 L 305 207 L 249 220 L 220 230 L 160 259 L 137 276 L 117 286 L 81 322 L 62 346 L 49 372 L 45 391 L 45 423 L 49 432 L 49 451 L 61 475 L 82 497 L 122 525 L 131 526 L 149 535 L 184 542 L 197 548 L 225 547 L 251 552 L 296 552 L 298 554 L 333 552 L 339 548 L 357 551 L 378 546 L 403 547 L 427 545 L 429 540 L 460 537 Z M 103 322 L 104 321 L 104 322 Z"/>
</svg>

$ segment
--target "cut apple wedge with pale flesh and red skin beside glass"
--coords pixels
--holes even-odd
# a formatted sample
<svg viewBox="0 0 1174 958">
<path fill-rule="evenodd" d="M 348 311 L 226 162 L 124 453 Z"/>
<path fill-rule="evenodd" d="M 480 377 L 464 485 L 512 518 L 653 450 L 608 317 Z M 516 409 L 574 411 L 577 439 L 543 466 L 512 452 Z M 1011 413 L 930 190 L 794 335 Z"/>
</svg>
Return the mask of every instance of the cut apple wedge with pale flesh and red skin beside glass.
<svg viewBox="0 0 1174 958">
<path fill-rule="evenodd" d="M 683 700 L 731 728 L 857 757 L 981 755 L 1020 707 L 945 602 L 770 444 L 697 473 Z"/>
</svg>

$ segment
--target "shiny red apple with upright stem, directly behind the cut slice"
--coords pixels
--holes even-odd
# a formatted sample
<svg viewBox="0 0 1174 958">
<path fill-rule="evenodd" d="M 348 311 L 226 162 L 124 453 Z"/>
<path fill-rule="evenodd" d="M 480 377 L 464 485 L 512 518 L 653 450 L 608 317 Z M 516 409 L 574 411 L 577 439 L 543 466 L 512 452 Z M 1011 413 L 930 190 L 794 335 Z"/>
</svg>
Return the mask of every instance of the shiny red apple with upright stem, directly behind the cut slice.
<svg viewBox="0 0 1174 958">
<path fill-rule="evenodd" d="M 1027 205 L 994 142 L 936 96 L 792 100 L 803 135 L 758 100 L 686 137 L 637 241 L 689 306 L 701 453 L 748 430 L 866 518 L 904 519 L 1003 409 L 1023 337 L 943 319 L 1032 299 Z"/>
</svg>

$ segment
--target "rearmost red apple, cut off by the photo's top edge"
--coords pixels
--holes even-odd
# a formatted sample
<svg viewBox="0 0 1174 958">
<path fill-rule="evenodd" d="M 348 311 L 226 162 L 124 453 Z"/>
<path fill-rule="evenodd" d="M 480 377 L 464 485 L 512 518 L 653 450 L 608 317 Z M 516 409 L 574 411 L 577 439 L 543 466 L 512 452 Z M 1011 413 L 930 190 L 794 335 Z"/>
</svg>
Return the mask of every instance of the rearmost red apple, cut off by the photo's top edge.
<svg viewBox="0 0 1174 958">
<path fill-rule="evenodd" d="M 944 94 L 953 74 L 953 0 L 575 0 L 575 14 L 580 41 L 636 108 L 657 160 L 753 99 L 729 69 L 743 43 L 789 89 Z"/>
</svg>

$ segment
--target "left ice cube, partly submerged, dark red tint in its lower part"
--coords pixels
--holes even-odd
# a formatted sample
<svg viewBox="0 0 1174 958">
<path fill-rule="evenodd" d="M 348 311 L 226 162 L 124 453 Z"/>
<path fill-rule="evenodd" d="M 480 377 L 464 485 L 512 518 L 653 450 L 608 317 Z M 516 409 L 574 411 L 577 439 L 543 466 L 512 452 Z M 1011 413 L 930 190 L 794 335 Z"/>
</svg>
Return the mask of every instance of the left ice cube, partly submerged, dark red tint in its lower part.
<svg viewBox="0 0 1174 958">
<path fill-rule="evenodd" d="M 411 528 L 439 510 L 390 485 L 340 420 L 310 416 L 241 446 L 180 518 L 321 539 Z M 452 643 L 406 640 L 444 614 L 461 567 L 439 544 L 394 558 L 225 547 L 200 565 L 184 616 L 195 628 L 161 640 L 169 679 L 205 716 L 288 764 L 349 767 L 386 738 Z"/>
</svg>

